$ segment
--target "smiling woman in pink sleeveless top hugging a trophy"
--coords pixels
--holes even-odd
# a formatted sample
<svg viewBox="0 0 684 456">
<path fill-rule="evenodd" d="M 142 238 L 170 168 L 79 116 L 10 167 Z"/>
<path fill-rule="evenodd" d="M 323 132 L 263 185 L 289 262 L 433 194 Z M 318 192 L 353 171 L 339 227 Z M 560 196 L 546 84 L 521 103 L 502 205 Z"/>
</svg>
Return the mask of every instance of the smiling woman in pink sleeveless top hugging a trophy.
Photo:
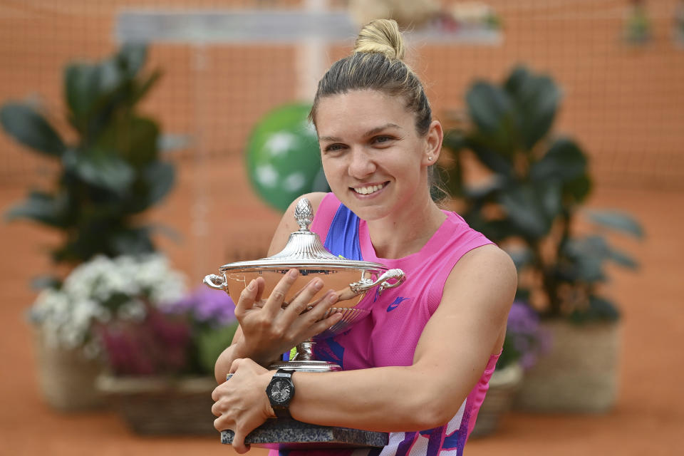
<svg viewBox="0 0 684 456">
<path fill-rule="evenodd" d="M 332 254 L 402 269 L 408 279 L 382 296 L 363 298 L 370 300 L 371 318 L 318 341 L 316 359 L 343 369 L 325 374 L 274 373 L 263 366 L 337 323 L 339 314 L 311 318 L 325 314 L 336 294 L 328 291 L 311 311 L 296 314 L 288 309 L 325 290 L 320 279 L 287 309 L 283 296 L 298 271 L 286 274 L 270 296 L 263 296 L 263 279 L 247 286 L 235 311 L 240 328 L 216 364 L 221 384 L 212 408 L 215 427 L 234 430 L 238 452 L 249 449 L 244 437 L 276 414 L 390 432 L 388 445 L 373 450 L 383 456 L 461 455 L 475 425 L 501 353 L 516 272 L 507 254 L 430 198 L 442 127 L 402 58 L 396 23 L 373 21 L 351 56 L 323 76 L 310 117 L 332 192 L 306 197 L 316 209 L 311 231 Z M 298 229 L 293 212 L 294 204 L 269 254 Z M 233 375 L 226 382 L 227 373 Z M 264 393 L 283 378 L 291 392 L 285 401 Z"/>
</svg>

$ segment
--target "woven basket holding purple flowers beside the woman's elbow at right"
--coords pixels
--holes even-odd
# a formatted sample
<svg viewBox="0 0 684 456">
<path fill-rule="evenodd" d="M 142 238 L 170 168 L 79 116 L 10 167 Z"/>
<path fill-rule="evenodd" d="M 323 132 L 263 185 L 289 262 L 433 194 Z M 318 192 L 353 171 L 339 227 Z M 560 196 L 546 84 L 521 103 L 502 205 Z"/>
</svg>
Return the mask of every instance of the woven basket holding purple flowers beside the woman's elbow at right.
<svg viewBox="0 0 684 456">
<path fill-rule="evenodd" d="M 501 417 L 512 407 L 522 377 L 523 371 L 518 363 L 494 371 L 470 437 L 484 437 L 498 429 Z"/>
</svg>

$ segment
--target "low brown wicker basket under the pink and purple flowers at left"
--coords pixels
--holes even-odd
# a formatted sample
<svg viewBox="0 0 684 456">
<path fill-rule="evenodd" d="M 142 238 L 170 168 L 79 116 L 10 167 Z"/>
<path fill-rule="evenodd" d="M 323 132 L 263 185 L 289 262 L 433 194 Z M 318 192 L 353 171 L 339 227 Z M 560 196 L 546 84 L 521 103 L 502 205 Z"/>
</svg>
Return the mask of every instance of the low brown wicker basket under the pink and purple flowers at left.
<svg viewBox="0 0 684 456">
<path fill-rule="evenodd" d="M 117 377 L 100 375 L 107 396 L 133 432 L 142 435 L 216 434 L 211 377 Z"/>
</svg>

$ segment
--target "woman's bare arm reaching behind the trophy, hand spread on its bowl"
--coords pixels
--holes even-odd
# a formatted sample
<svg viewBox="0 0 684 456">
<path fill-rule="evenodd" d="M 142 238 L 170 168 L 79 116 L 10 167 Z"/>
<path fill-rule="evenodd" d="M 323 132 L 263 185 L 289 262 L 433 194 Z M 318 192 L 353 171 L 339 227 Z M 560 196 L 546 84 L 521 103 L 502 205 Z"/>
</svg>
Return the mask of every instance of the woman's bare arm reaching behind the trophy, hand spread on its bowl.
<svg viewBox="0 0 684 456">
<path fill-rule="evenodd" d="M 309 199 L 315 213 L 325 195 L 325 193 L 309 193 L 304 195 L 304 197 Z M 290 204 L 290 207 L 283 215 L 271 240 L 269 256 L 280 252 L 285 247 L 289 235 L 299 229 L 299 225 L 294 219 L 294 208 L 297 201 L 299 201 L 299 198 Z M 284 277 L 281 288 L 289 288 L 294 278 L 296 277 Z M 226 374 L 234 359 L 250 358 L 261 366 L 268 366 L 273 361 L 276 361 L 281 353 L 288 351 L 297 343 L 336 323 L 338 318 L 340 318 L 336 314 L 326 318 L 323 322 L 312 323 L 314 318 L 321 318 L 325 311 L 334 304 L 335 301 L 326 301 L 329 297 L 328 295 L 323 297 L 323 301 L 318 303 L 314 311 L 307 312 L 309 315 L 301 316 L 300 318 L 299 314 L 301 312 L 296 312 L 299 309 L 296 304 L 301 304 L 301 306 L 309 304 L 309 302 L 304 301 L 310 299 L 311 292 L 318 291 L 320 289 L 318 285 L 321 284 L 320 279 L 318 281 L 311 281 L 299 296 L 299 301 L 293 301 L 293 305 L 286 311 L 282 311 L 280 303 L 276 302 L 279 297 L 277 294 L 275 294 L 276 296 L 271 294 L 274 299 L 270 301 L 270 306 L 266 305 L 266 302 L 269 301 L 265 301 L 261 296 L 264 291 L 263 279 L 258 279 L 254 283 L 254 289 L 245 289 L 236 303 L 237 307 L 235 309 L 235 316 L 240 326 L 235 332 L 232 344 L 221 353 L 214 366 L 214 375 L 217 382 L 222 383 L 226 380 Z M 306 291 L 309 291 L 309 293 Z M 269 296 L 269 299 L 271 296 Z M 264 312 L 263 309 L 272 311 Z M 247 336 L 245 336 L 245 332 L 247 332 Z"/>
</svg>

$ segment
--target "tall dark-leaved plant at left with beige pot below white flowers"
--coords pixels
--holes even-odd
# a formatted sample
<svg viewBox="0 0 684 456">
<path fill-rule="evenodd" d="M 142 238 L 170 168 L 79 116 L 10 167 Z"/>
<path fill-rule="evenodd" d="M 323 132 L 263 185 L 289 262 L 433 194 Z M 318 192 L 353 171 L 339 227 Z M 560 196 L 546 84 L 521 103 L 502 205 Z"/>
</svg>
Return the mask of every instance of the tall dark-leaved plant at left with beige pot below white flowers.
<svg viewBox="0 0 684 456">
<path fill-rule="evenodd" d="M 29 220 L 61 234 L 51 249 L 56 267 L 40 286 L 58 289 L 73 267 L 98 255 L 155 250 L 155 226 L 145 224 L 141 215 L 171 190 L 175 170 L 161 160 L 159 126 L 139 113 L 140 100 L 160 76 L 159 71 L 143 71 L 145 59 L 145 46 L 131 45 L 97 63 L 66 66 L 64 117 L 70 140 L 31 103 L 6 101 L 0 108 L 5 133 L 54 165 L 51 182 L 31 190 L 5 213 L 8 220 Z M 36 321 L 38 358 L 63 360 L 50 365 L 61 371 L 49 375 L 63 381 L 43 390 L 48 403 L 69 410 L 98 405 L 95 393 L 84 393 L 87 385 L 92 389 L 89 379 L 98 366 L 64 347 L 52 353 L 42 333 L 47 321 Z"/>
</svg>

